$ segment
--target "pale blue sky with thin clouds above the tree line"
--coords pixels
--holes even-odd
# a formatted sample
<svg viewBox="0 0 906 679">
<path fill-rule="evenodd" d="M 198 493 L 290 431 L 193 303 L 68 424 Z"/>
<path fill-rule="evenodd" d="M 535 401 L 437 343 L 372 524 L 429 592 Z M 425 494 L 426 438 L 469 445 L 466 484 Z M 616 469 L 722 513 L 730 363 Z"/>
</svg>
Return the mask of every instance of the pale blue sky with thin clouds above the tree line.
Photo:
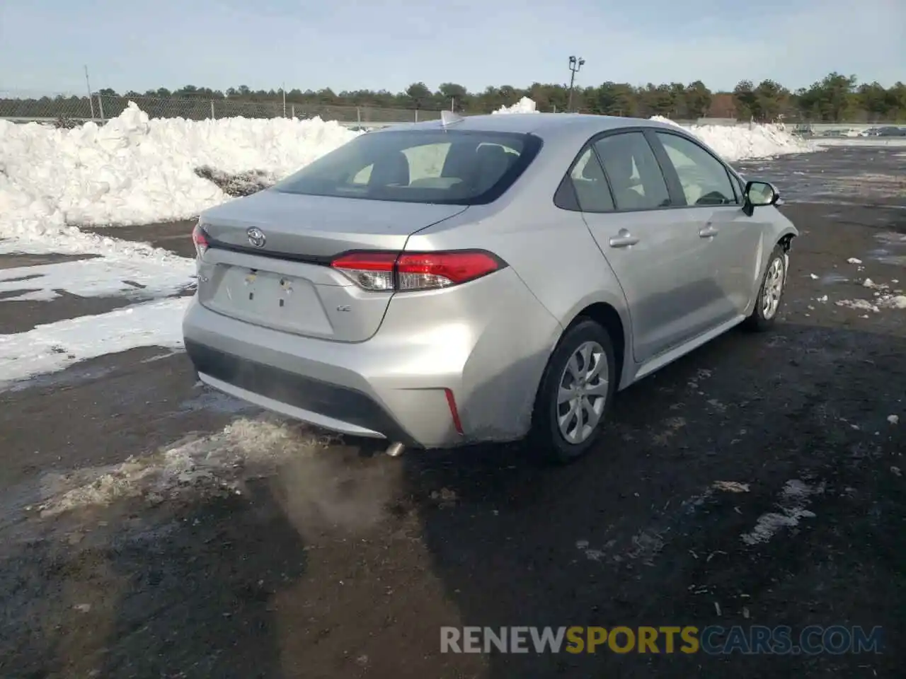
<svg viewBox="0 0 906 679">
<path fill-rule="evenodd" d="M 906 81 L 906 0 L 3 0 L 0 91 Z"/>
</svg>

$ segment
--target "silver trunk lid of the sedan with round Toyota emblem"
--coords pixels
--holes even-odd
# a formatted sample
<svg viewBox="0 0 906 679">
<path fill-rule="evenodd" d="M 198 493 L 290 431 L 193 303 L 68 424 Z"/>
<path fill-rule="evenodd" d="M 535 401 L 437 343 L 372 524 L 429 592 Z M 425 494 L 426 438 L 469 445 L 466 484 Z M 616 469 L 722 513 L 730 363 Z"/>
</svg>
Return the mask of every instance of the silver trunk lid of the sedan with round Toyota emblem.
<svg viewBox="0 0 906 679">
<path fill-rule="evenodd" d="M 381 326 L 392 292 L 329 264 L 351 250 L 399 252 L 410 234 L 466 206 L 263 191 L 208 210 L 198 300 L 211 311 L 305 337 L 355 342 Z"/>
</svg>

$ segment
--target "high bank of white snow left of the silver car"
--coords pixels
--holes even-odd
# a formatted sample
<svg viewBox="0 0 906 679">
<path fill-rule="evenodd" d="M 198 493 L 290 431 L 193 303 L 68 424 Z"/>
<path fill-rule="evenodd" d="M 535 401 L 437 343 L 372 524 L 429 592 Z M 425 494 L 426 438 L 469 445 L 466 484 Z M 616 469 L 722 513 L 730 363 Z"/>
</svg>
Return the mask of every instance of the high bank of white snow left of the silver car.
<svg viewBox="0 0 906 679">
<path fill-rule="evenodd" d="M 155 119 L 134 103 L 99 127 L 0 120 L 0 237 L 76 235 L 72 224 L 187 218 L 228 199 L 198 167 L 274 179 L 359 133 L 313 120 Z"/>
</svg>

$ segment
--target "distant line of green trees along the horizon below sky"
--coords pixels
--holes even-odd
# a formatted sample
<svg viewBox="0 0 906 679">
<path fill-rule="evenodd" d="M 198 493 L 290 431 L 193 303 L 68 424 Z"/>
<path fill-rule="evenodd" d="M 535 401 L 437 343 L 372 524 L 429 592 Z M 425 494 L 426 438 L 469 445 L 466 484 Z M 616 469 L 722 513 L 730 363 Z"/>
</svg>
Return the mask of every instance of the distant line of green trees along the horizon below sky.
<svg viewBox="0 0 906 679">
<path fill-rule="evenodd" d="M 470 92 L 454 82 L 442 83 L 432 91 L 424 82 L 412 83 L 406 91 L 386 90 L 341 91 L 331 89 L 302 91 L 300 89 L 257 90 L 246 85 L 226 91 L 187 85 L 178 90 L 160 88 L 145 92 L 118 93 L 111 89 L 98 91 L 104 98 L 157 100 L 198 100 L 199 106 L 208 101 L 229 101 L 247 104 L 279 104 L 294 106 L 304 115 L 306 108 L 365 107 L 372 109 L 416 109 L 424 111 L 455 110 L 460 113 L 487 113 L 501 106 L 511 106 L 522 97 L 537 103 L 538 110 L 569 110 L 569 88 L 561 84 L 533 83 L 520 89 L 510 85 L 487 87 L 485 91 Z M 63 98 L 64 99 L 64 98 Z M 77 99 L 77 98 L 72 98 Z M 2 100 L 0 116 L 15 101 L 15 110 L 27 110 L 28 101 L 53 103 L 44 100 Z M 594 87 L 576 87 L 572 95 L 572 110 L 602 115 L 621 115 L 647 118 L 653 115 L 673 120 L 699 118 L 728 118 L 767 122 L 895 122 L 906 121 L 906 84 L 897 82 L 884 88 L 878 82 L 859 83 L 854 75 L 829 73 L 811 87 L 790 91 L 773 80 L 739 81 L 733 91 L 711 91 L 702 81 L 635 86 L 625 82 L 602 82 Z M 21 115 L 21 113 L 20 113 Z"/>
</svg>

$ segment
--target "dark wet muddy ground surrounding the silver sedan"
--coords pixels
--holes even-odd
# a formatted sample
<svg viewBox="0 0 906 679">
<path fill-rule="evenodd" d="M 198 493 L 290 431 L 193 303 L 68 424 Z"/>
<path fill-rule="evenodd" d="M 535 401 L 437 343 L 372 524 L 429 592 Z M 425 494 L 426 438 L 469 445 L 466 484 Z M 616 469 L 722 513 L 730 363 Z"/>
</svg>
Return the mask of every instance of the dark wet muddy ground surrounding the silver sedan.
<svg viewBox="0 0 906 679">
<path fill-rule="evenodd" d="M 566 468 L 531 441 L 390 459 L 207 392 L 164 349 L 0 393 L 0 675 L 901 676 L 906 310 L 871 305 L 906 288 L 904 150 L 744 164 L 803 232 L 777 329 L 623 392 Z M 115 235 L 190 254 L 190 228 Z M 441 626 L 573 625 L 882 626 L 885 646 L 439 652 Z"/>
</svg>

